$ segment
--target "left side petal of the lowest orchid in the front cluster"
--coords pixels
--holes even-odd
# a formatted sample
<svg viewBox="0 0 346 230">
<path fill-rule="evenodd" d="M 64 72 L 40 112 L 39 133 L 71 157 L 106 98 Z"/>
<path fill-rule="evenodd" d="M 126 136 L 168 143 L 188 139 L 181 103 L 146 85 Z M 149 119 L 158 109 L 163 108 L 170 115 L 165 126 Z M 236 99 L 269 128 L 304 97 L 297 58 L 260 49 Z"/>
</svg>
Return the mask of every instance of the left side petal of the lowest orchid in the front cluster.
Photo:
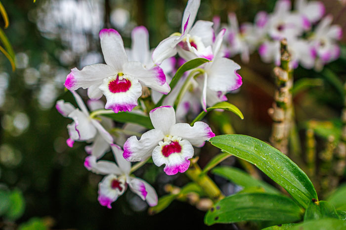
<svg viewBox="0 0 346 230">
<path fill-rule="evenodd" d="M 96 156 L 92 155 L 86 157 L 86 159 L 84 160 L 84 166 L 87 168 L 87 170 L 92 171 L 96 174 L 123 174 L 122 170 L 115 163 L 103 160 L 96 162 Z"/>
</svg>

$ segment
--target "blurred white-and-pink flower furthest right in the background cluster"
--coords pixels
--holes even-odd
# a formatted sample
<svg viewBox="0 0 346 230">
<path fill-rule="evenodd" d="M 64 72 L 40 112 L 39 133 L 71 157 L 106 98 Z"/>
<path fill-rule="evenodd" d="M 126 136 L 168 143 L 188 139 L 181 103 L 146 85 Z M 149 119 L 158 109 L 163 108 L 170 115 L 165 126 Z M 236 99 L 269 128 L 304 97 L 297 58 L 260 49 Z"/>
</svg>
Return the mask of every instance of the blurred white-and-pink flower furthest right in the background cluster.
<svg viewBox="0 0 346 230">
<path fill-rule="evenodd" d="M 321 69 L 324 64 L 330 63 L 340 56 L 340 47 L 337 41 L 343 36 L 342 28 L 339 25 L 331 25 L 333 17 L 324 17 L 316 27 L 315 33 L 310 38 L 310 42 L 318 58 L 317 69 Z"/>
</svg>

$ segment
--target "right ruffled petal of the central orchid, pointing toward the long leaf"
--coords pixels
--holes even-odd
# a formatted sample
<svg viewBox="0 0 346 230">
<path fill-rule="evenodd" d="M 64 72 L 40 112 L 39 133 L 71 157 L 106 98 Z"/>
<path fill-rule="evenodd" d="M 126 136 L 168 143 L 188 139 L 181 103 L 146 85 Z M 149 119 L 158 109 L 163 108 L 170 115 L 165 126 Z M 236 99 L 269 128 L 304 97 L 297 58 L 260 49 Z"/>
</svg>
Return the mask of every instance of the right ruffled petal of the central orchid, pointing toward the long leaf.
<svg viewBox="0 0 346 230">
<path fill-rule="evenodd" d="M 186 123 L 177 123 L 172 126 L 170 133 L 188 140 L 196 147 L 202 147 L 205 141 L 215 136 L 208 124 L 201 121 L 196 122 L 192 127 Z"/>
</svg>

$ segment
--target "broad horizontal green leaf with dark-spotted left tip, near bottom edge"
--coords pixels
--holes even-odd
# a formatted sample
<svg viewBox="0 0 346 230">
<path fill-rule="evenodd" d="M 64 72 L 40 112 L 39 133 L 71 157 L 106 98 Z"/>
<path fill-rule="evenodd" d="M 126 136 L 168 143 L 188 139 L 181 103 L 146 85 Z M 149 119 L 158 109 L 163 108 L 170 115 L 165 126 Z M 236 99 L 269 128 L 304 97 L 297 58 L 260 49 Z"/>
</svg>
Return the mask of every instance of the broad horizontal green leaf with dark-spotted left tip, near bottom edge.
<svg viewBox="0 0 346 230">
<path fill-rule="evenodd" d="M 276 194 L 236 194 L 218 201 L 204 217 L 207 225 L 241 221 L 275 221 L 278 224 L 301 220 L 302 210 L 292 199 Z"/>
</svg>

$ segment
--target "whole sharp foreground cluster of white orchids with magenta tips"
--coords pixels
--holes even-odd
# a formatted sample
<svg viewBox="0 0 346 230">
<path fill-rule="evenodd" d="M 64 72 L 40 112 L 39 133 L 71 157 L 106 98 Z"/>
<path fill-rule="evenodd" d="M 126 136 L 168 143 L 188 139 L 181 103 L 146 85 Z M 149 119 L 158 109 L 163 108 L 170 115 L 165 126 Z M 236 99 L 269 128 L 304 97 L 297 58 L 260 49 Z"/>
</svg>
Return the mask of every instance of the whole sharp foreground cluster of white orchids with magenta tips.
<svg viewBox="0 0 346 230">
<path fill-rule="evenodd" d="M 207 111 L 207 106 L 227 100 L 225 95 L 242 85 L 237 73 L 240 66 L 225 58 L 220 49 L 226 29 L 215 31 L 213 22 L 195 22 L 199 6 L 200 0 L 189 0 L 181 32 L 161 41 L 153 51 L 149 49 L 149 34 L 143 26 L 133 29 L 129 49 L 124 47 L 117 31 L 101 30 L 99 38 L 106 64 L 73 68 L 66 77 L 65 87 L 72 92 L 79 108 L 63 100 L 57 101 L 56 108 L 73 119 L 67 126 L 68 146 L 73 147 L 75 141 L 91 143 L 86 147 L 88 156 L 84 165 L 91 172 L 105 175 L 98 190 L 98 200 L 103 206 L 111 208 L 127 186 L 155 206 L 158 202 L 155 190 L 134 177 L 133 171 L 152 158 L 157 166 L 165 164 L 167 175 L 185 172 L 194 156 L 194 147 L 202 147 L 215 134 L 204 122 L 196 121 L 190 126 L 176 120 L 183 121 L 189 111 L 193 114 L 201 109 Z M 194 59 L 203 60 L 203 64 L 190 68 L 171 89 L 169 83 L 173 82 L 177 67 Z M 87 89 L 88 107 L 93 112 L 88 112 L 77 94 L 79 88 Z M 147 96 L 149 89 L 151 98 Z M 156 106 L 150 106 L 153 103 Z M 100 110 L 103 108 L 106 110 Z M 125 134 L 112 136 L 112 120 L 96 117 L 124 112 L 149 116 L 154 129 L 144 132 L 139 140 L 130 136 L 124 143 L 121 139 L 128 137 Z M 116 143 L 123 144 L 123 148 Z M 101 159 L 109 150 L 115 162 Z M 130 162 L 139 163 L 131 168 Z"/>
</svg>

